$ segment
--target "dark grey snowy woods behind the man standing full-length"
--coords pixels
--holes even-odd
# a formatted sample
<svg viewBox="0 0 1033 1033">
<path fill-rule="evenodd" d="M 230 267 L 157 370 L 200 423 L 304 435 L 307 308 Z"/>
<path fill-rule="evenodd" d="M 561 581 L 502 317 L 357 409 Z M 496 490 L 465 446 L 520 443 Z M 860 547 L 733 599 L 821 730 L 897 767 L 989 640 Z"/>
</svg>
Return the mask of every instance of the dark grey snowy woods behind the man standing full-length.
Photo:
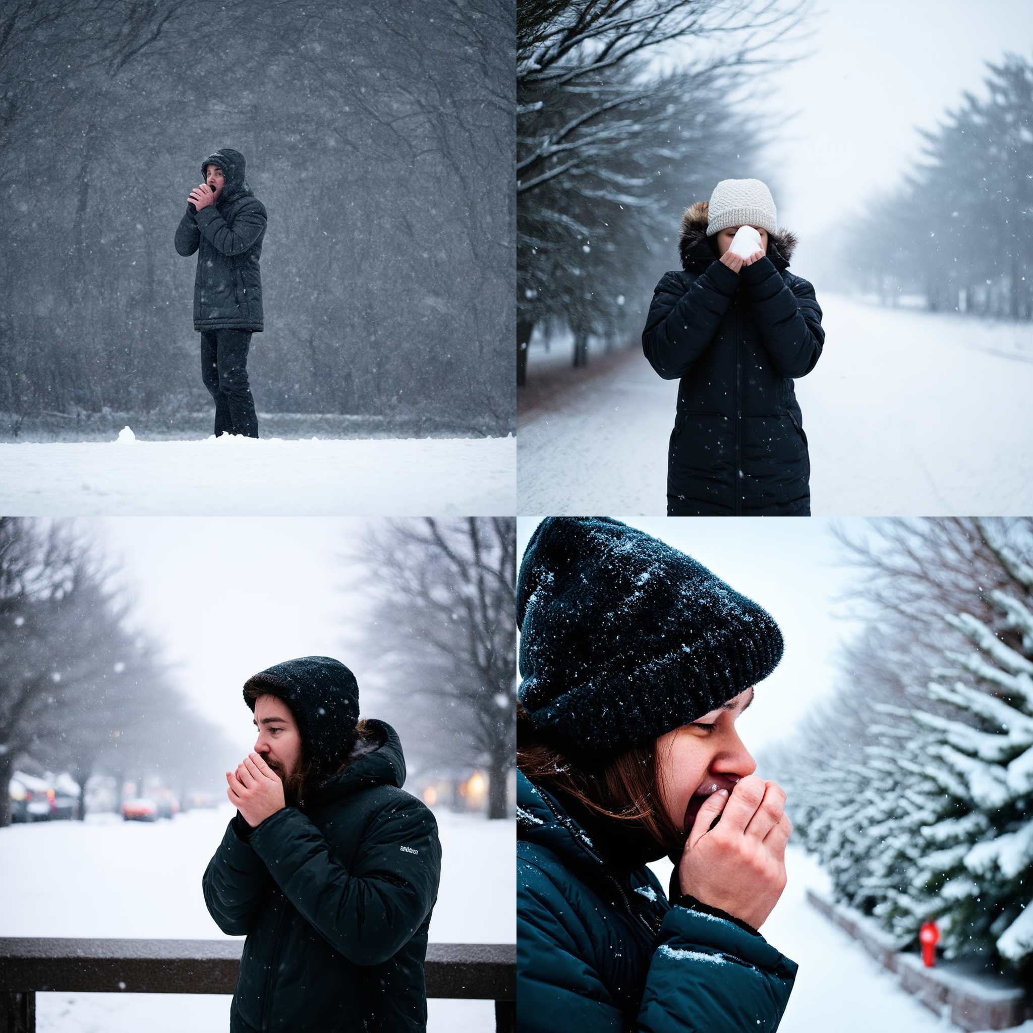
<svg viewBox="0 0 1033 1033">
<path fill-rule="evenodd" d="M 269 213 L 259 411 L 506 433 L 513 4 L 400 13 L 6 4 L 0 412 L 210 410 L 173 237 L 232 147 Z"/>
</svg>

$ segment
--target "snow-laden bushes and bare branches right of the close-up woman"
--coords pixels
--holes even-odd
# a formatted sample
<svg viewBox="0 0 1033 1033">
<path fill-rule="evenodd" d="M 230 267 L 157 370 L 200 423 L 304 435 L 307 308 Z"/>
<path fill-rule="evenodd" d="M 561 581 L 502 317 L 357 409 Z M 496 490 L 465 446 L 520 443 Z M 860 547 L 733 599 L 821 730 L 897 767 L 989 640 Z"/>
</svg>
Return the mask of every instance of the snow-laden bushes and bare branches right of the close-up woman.
<svg viewBox="0 0 1033 1033">
<path fill-rule="evenodd" d="M 837 537 L 862 632 L 764 751 L 794 841 L 900 947 L 1033 975 L 1033 519 L 879 520 Z"/>
</svg>

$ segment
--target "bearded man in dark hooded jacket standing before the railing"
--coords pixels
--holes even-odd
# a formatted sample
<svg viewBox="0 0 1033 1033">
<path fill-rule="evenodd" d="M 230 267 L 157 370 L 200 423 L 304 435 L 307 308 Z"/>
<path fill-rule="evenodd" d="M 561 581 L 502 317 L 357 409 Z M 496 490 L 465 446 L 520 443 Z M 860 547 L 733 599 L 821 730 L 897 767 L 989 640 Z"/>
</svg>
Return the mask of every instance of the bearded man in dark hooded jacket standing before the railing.
<svg viewBox="0 0 1033 1033">
<path fill-rule="evenodd" d="M 331 657 L 276 664 L 244 698 L 258 740 L 226 772 L 238 811 L 202 879 L 216 925 L 247 936 L 230 1033 L 426 1030 L 441 845 L 402 789 L 398 734 L 358 720 L 355 678 Z"/>
</svg>

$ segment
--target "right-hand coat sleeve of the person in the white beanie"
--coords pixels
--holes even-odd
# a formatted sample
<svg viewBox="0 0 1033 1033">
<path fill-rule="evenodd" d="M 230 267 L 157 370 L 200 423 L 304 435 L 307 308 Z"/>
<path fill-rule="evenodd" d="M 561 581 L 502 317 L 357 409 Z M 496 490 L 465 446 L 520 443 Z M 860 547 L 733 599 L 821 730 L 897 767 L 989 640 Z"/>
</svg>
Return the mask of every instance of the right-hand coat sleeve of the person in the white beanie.
<svg viewBox="0 0 1033 1033">
<path fill-rule="evenodd" d="M 821 357 L 825 341 L 814 287 L 797 276 L 790 289 L 766 255 L 740 273 L 757 333 L 775 368 L 783 376 L 806 376 Z"/>
</svg>

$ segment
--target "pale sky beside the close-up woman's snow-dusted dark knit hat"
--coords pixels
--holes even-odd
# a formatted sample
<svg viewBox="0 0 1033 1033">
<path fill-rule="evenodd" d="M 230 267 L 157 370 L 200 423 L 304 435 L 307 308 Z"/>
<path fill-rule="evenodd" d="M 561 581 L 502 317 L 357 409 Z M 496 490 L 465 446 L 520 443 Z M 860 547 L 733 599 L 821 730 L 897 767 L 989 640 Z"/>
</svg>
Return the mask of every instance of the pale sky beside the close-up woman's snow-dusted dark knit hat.
<svg viewBox="0 0 1033 1033">
<path fill-rule="evenodd" d="M 753 706 L 735 726 L 751 752 L 791 735 L 796 722 L 833 688 L 837 650 L 859 627 L 842 616 L 848 605 L 834 601 L 855 575 L 837 565 L 839 546 L 828 533 L 829 522 L 819 516 L 737 521 L 608 515 L 688 553 L 775 618 L 785 653 L 757 686 Z M 518 519 L 519 557 L 540 519 Z M 841 524 L 864 526 L 862 521 Z"/>
</svg>

